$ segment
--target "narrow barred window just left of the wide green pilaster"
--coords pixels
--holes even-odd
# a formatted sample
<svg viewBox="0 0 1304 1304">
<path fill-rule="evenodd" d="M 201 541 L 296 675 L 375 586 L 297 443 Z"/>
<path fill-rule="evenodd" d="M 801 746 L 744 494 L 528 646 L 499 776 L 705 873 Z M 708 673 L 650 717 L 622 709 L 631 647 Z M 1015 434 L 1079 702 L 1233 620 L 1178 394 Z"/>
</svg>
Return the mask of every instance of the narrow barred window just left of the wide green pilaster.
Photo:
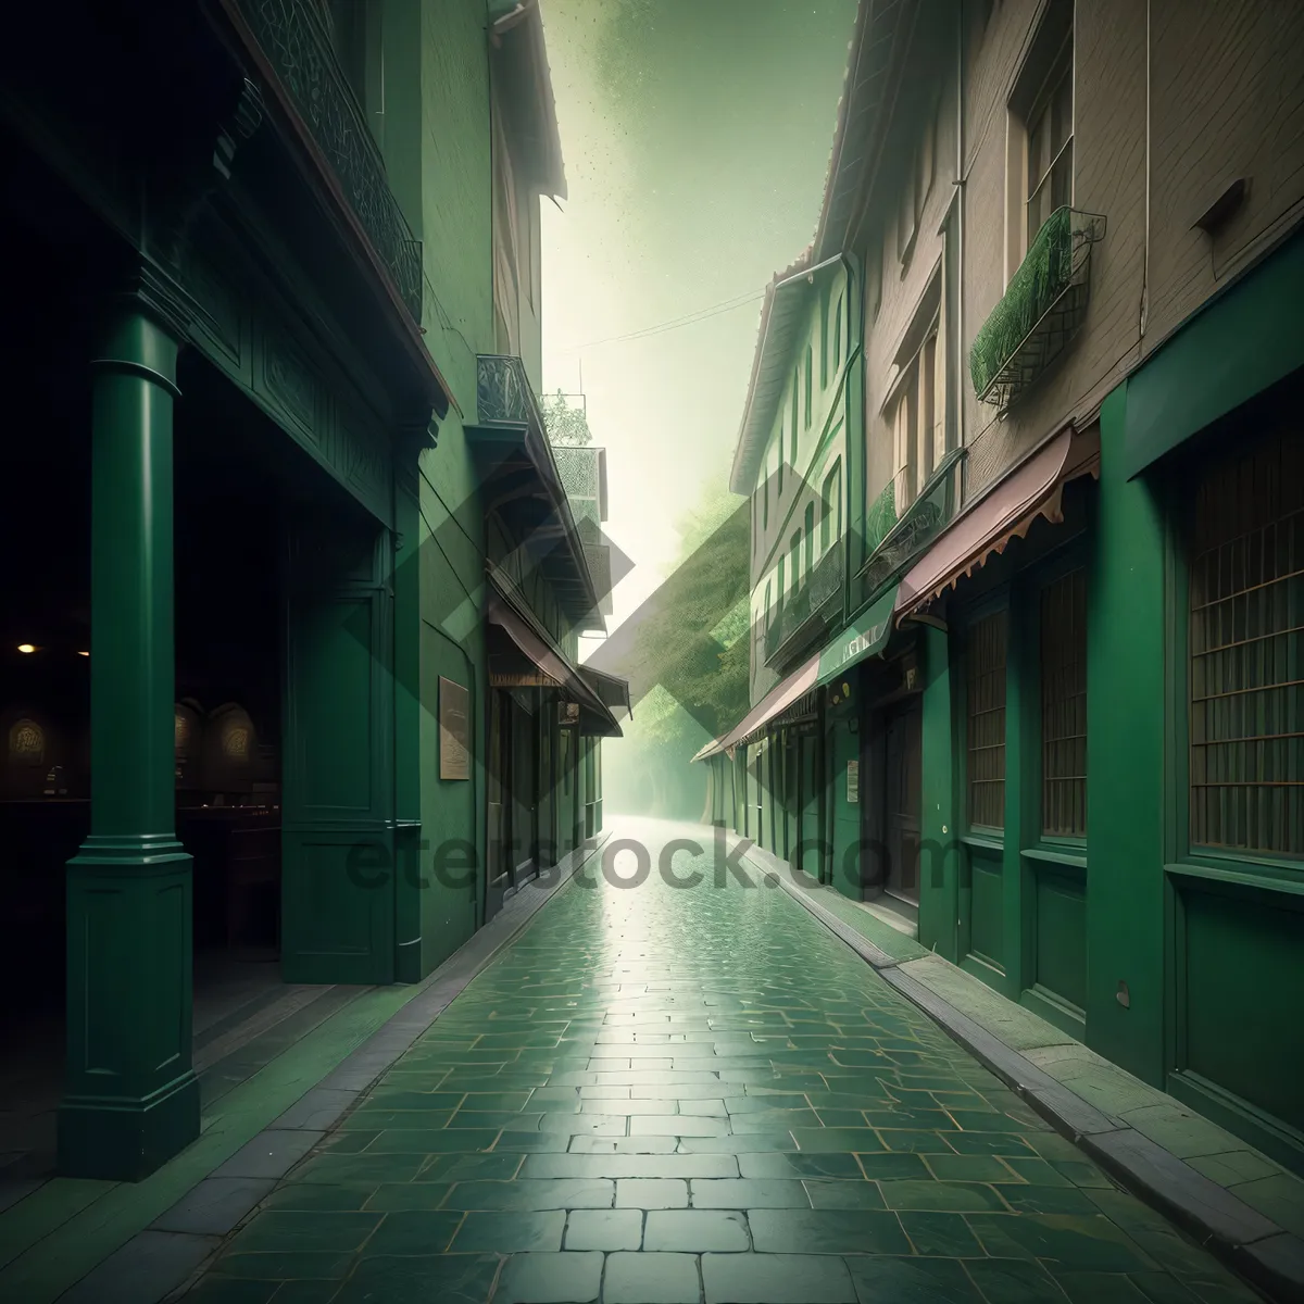
<svg viewBox="0 0 1304 1304">
<path fill-rule="evenodd" d="M 1086 836 L 1086 571 L 1042 589 L 1042 832 Z"/>
</svg>

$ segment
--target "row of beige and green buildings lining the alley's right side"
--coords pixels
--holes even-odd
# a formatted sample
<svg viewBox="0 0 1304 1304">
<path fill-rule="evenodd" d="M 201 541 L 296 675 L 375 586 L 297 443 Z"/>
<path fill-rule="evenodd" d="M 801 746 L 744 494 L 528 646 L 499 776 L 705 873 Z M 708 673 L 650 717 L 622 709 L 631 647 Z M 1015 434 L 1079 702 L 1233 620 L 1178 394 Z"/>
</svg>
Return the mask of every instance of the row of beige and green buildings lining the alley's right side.
<svg viewBox="0 0 1304 1304">
<path fill-rule="evenodd" d="M 854 269 L 846 584 L 699 759 L 717 822 L 1304 1171 L 1299 94 L 1232 14 L 1035 8 L 861 7 L 799 263 Z M 782 279 L 748 413 L 819 356 Z"/>
</svg>

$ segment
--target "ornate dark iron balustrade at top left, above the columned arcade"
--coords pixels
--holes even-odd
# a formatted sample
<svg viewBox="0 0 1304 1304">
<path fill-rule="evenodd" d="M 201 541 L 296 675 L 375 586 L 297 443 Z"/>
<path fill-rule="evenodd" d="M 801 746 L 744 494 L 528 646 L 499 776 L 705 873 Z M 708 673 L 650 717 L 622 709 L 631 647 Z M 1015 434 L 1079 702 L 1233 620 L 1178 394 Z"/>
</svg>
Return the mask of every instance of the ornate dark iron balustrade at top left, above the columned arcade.
<svg viewBox="0 0 1304 1304">
<path fill-rule="evenodd" d="M 235 5 L 420 325 L 421 243 L 390 190 L 385 163 L 335 55 L 319 0 L 235 0 Z"/>
</svg>

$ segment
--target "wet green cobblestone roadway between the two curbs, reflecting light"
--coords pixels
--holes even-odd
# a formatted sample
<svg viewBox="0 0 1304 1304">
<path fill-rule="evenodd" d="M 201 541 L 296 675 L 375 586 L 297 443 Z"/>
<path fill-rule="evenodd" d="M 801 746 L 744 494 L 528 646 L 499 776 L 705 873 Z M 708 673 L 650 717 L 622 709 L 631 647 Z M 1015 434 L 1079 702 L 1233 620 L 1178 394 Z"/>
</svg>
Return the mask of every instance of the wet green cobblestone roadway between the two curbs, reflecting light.
<svg viewBox="0 0 1304 1304">
<path fill-rule="evenodd" d="M 614 832 L 647 882 L 591 862 L 186 1304 L 1257 1299 L 782 891 Z"/>
</svg>

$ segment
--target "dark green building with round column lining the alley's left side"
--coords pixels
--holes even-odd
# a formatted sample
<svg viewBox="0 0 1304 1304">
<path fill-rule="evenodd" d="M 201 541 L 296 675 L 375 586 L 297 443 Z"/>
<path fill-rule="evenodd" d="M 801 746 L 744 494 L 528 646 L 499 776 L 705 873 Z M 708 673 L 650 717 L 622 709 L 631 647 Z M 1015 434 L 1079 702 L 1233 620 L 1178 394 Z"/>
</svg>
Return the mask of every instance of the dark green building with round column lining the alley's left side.
<svg viewBox="0 0 1304 1304">
<path fill-rule="evenodd" d="M 200 1131 L 196 938 L 261 930 L 292 983 L 430 973 L 493 866 L 597 832 L 619 695 L 574 664 L 600 593 L 533 399 L 565 193 L 537 10 L 13 35 L 8 951 L 59 994 L 67 965 L 60 1171 L 134 1179 Z M 518 769 L 489 763 L 499 635 L 539 672 Z"/>
</svg>

